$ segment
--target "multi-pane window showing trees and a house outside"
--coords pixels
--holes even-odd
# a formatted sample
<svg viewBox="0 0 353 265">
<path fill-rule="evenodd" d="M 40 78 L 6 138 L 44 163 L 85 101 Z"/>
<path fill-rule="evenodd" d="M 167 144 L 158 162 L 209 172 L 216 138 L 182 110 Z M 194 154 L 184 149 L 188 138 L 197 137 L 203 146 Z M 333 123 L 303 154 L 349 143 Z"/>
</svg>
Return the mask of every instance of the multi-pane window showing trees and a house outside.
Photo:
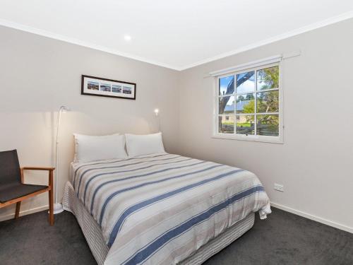
<svg viewBox="0 0 353 265">
<path fill-rule="evenodd" d="M 215 137 L 282 143 L 280 60 L 219 75 L 216 87 Z"/>
</svg>

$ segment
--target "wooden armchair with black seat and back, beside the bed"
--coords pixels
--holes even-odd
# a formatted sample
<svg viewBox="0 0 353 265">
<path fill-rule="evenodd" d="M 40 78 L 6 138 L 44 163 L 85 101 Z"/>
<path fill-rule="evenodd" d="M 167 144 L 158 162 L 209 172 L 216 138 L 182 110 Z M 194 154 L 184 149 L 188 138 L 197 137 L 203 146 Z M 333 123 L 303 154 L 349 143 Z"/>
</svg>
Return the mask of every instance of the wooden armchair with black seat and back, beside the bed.
<svg viewBox="0 0 353 265">
<path fill-rule="evenodd" d="M 0 152 L 0 208 L 16 204 L 15 218 L 18 218 L 21 201 L 43 192 L 49 192 L 49 224 L 54 225 L 54 169 L 54 167 L 20 167 L 17 150 Z M 47 170 L 49 172 L 48 186 L 24 184 L 24 170 Z"/>
</svg>

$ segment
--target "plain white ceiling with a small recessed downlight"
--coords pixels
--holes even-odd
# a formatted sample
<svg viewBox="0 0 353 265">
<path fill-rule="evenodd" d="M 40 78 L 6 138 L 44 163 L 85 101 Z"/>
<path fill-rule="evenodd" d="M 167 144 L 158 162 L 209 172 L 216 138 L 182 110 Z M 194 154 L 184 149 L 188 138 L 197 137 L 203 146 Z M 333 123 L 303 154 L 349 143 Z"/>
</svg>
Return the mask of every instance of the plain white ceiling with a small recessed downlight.
<svg viewBox="0 0 353 265">
<path fill-rule="evenodd" d="M 0 2 L 0 25 L 178 70 L 350 17 L 352 0 Z"/>
</svg>

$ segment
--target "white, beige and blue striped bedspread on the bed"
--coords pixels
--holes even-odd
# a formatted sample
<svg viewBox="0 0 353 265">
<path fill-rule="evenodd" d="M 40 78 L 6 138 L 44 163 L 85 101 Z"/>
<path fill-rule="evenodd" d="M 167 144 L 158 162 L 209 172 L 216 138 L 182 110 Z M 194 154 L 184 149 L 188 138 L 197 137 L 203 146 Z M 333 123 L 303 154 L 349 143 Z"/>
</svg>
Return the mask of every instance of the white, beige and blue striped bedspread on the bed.
<svg viewBox="0 0 353 265">
<path fill-rule="evenodd" d="M 104 264 L 177 264 L 270 204 L 253 173 L 160 153 L 71 166 L 78 198 L 110 247 Z"/>
</svg>

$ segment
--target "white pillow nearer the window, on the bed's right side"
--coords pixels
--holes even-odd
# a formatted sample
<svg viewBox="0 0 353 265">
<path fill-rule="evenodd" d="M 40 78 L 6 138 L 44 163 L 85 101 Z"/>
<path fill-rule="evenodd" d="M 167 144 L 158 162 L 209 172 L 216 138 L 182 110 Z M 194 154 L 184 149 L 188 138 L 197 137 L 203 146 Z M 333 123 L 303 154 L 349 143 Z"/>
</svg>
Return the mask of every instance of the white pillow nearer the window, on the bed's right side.
<svg viewBox="0 0 353 265">
<path fill-rule="evenodd" d="M 149 155 L 151 153 L 164 153 L 162 134 L 125 134 L 128 157 Z"/>
</svg>

